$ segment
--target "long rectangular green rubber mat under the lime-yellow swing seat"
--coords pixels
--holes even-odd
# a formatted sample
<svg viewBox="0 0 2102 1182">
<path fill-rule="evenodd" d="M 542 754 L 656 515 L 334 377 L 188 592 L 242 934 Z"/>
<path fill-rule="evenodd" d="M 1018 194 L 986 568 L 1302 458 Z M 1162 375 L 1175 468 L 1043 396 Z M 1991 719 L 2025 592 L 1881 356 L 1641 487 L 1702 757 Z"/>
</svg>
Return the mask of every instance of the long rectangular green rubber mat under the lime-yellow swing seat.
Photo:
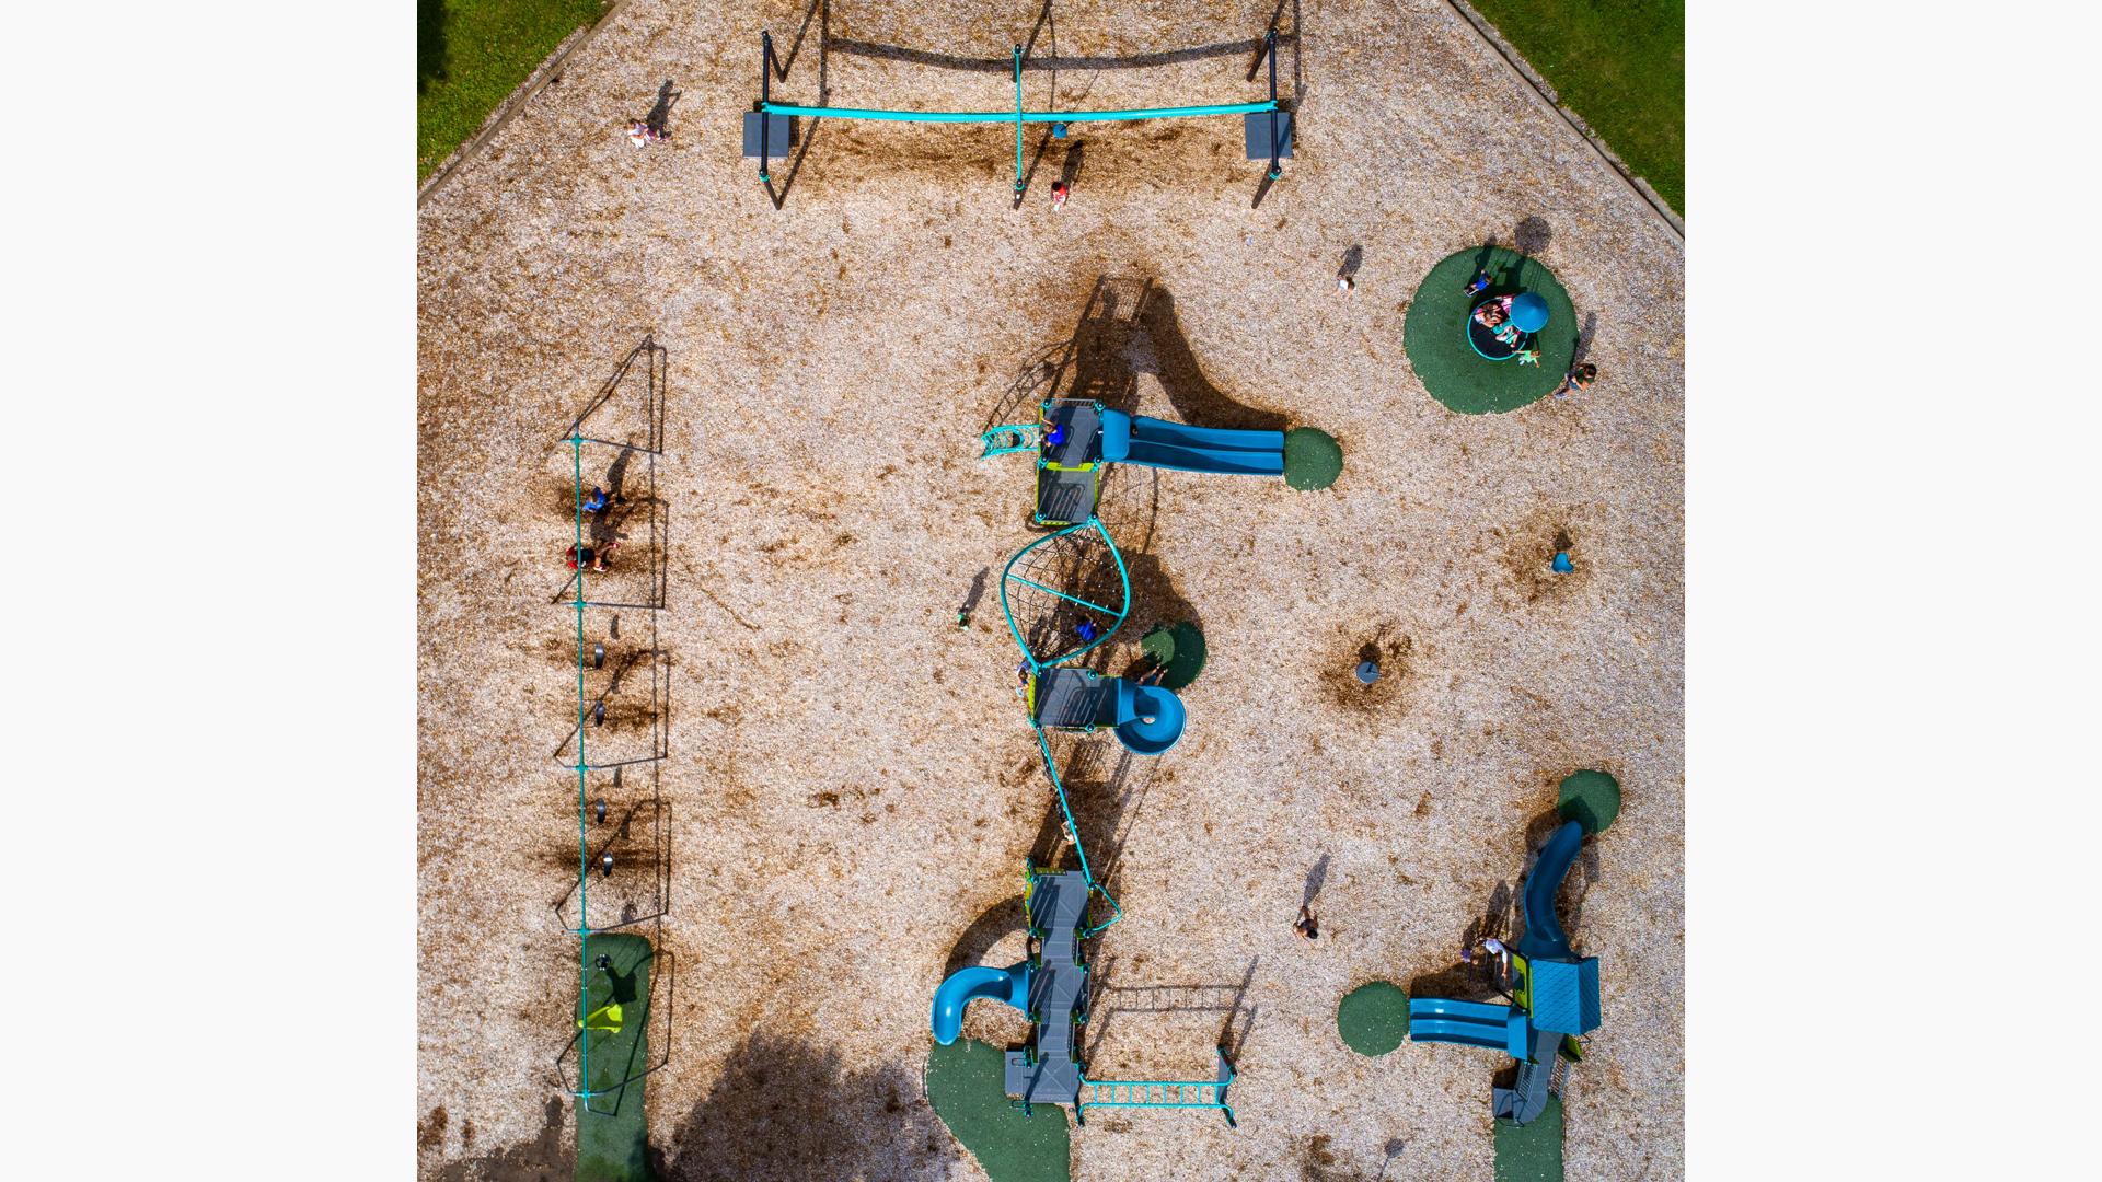
<svg viewBox="0 0 2102 1182">
<path fill-rule="evenodd" d="M 586 970 L 591 1010 L 620 1003 L 620 1033 L 591 1031 L 591 1089 L 605 1096 L 576 1102 L 576 1182 L 654 1182 L 650 1125 L 643 1121 L 643 1083 L 622 1079 L 650 1064 L 650 940 L 626 932 L 586 936 L 584 959 L 612 957 L 612 974 Z M 572 1026 L 576 1018 L 570 1020 Z M 591 1106 L 589 1110 L 584 1106 Z"/>
</svg>

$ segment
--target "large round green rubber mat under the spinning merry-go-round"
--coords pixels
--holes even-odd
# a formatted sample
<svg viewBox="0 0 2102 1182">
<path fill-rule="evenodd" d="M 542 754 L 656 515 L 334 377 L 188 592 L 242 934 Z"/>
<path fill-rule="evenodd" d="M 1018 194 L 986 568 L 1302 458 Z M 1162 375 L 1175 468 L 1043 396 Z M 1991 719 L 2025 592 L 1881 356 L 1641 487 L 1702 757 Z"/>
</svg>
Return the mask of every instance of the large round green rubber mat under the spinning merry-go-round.
<svg viewBox="0 0 2102 1182">
<path fill-rule="evenodd" d="M 1478 271 L 1490 273 L 1488 290 L 1467 294 Z M 1532 337 L 1541 364 L 1490 362 L 1467 343 L 1467 315 L 1488 297 L 1534 292 L 1547 301 L 1547 328 Z M 1539 259 L 1503 246 L 1476 246 L 1446 257 L 1423 276 L 1402 322 L 1402 349 L 1423 389 L 1446 410 L 1501 414 L 1539 402 L 1576 358 L 1576 305 Z"/>
</svg>

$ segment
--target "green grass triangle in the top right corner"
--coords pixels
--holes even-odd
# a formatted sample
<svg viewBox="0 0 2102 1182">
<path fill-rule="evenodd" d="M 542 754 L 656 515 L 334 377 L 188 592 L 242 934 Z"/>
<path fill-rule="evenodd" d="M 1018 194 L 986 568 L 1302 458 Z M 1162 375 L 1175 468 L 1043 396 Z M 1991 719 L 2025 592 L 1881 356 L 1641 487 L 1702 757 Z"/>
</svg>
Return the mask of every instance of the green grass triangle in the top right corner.
<svg viewBox="0 0 2102 1182">
<path fill-rule="evenodd" d="M 1684 0 L 1469 0 L 1686 217 Z"/>
</svg>

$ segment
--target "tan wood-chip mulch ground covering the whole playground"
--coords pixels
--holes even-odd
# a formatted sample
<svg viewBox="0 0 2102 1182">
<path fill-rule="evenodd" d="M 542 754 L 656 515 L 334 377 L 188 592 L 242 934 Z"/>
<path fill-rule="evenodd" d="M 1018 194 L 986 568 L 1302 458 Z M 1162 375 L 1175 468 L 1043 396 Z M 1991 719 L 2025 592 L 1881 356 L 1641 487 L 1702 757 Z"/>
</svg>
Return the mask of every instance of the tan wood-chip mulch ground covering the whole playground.
<svg viewBox="0 0 2102 1182">
<path fill-rule="evenodd" d="M 1022 957 L 1022 860 L 1055 806 L 996 587 L 967 629 L 954 614 L 1034 536 L 1028 461 L 975 456 L 1047 366 L 1137 414 L 1343 448 L 1324 490 L 1106 480 L 1133 614 L 1097 652 L 1122 669 L 1188 620 L 1204 669 L 1158 759 L 1059 740 L 1125 906 L 1095 946 L 1089 1064 L 1202 1079 L 1223 1037 L 1240 1127 L 1106 1110 L 1072 1134 L 1074 1178 L 1492 1176 L 1497 1058 L 1358 1056 L 1337 1003 L 1450 967 L 1581 768 L 1625 803 L 1570 875 L 1606 1024 L 1570 1073 L 1568 1169 L 1684 1174 L 1684 248 L 1442 0 L 1286 4 L 1299 143 L 1259 206 L 1232 118 L 1074 124 L 1022 210 L 1013 128 L 818 120 L 801 164 L 774 164 L 776 210 L 738 154 L 761 27 L 792 57 L 784 101 L 822 74 L 834 105 L 998 109 L 1043 6 L 822 8 L 797 44 L 807 0 L 635 0 L 418 210 L 423 1176 L 574 1167 L 553 1079 L 578 951 L 561 435 L 645 334 L 664 454 L 626 456 L 624 545 L 591 587 L 666 608 L 586 610 L 610 705 L 586 742 L 668 759 L 586 791 L 618 856 L 591 906 L 668 902 L 643 925 L 677 963 L 668 1035 L 647 1035 L 668 1052 L 645 1096 L 664 1176 L 984 1176 L 927 1102 L 929 1001 L 954 963 Z M 1026 99 L 1259 97 L 1274 11 L 1059 0 Z M 673 139 L 635 149 L 622 126 L 664 80 Z M 1404 351 L 1410 303 L 1442 259 L 1522 227 L 1595 318 L 1600 381 L 1455 414 Z M 605 484 L 622 456 L 582 463 Z M 1547 570 L 1558 538 L 1574 574 Z M 662 808 L 631 812 L 654 784 Z M 1314 867 L 1307 944 L 1291 921 Z M 1001 1007 L 965 1022 L 1022 1035 Z"/>
</svg>

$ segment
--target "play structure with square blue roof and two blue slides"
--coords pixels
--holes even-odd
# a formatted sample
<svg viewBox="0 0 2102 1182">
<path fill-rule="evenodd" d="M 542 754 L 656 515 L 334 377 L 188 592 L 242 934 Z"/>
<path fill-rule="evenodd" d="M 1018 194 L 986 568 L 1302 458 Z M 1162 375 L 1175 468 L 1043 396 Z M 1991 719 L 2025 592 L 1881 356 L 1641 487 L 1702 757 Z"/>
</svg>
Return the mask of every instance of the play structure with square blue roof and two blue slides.
<svg viewBox="0 0 2102 1182">
<path fill-rule="evenodd" d="M 1518 1125 L 1539 1119 L 1549 1092 L 1560 1092 L 1562 1062 L 1583 1058 L 1576 1039 L 1600 1024 L 1598 957 L 1579 957 L 1555 917 L 1555 892 L 1579 848 L 1583 824 L 1568 820 L 1541 845 L 1526 877 L 1526 930 L 1509 949 L 1511 1005 L 1408 999 L 1413 1041 L 1488 1047 L 1518 1060 L 1516 1083 L 1490 1092 L 1495 1117 Z"/>
</svg>

